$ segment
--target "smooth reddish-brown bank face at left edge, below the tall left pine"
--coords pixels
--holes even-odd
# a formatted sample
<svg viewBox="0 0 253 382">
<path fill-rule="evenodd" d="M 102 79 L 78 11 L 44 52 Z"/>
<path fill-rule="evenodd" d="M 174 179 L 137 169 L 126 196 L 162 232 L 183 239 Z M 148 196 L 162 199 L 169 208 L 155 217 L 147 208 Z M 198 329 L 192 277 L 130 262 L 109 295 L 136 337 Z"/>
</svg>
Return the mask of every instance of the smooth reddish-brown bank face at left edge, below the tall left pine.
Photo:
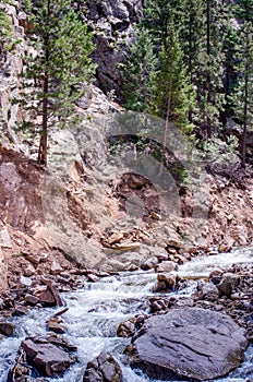
<svg viewBox="0 0 253 382">
<path fill-rule="evenodd" d="M 0 158 L 0 218 L 15 229 L 31 232 L 44 222 L 40 200 L 43 170 L 5 147 L 1 147 Z"/>
</svg>

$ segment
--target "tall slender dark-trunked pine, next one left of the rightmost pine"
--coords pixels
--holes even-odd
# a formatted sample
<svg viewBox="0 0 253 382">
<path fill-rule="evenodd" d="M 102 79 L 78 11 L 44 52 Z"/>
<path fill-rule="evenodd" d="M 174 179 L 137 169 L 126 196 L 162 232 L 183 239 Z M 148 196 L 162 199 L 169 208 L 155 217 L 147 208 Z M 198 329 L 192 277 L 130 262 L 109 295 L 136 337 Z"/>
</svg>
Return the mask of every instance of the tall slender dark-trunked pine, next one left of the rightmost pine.
<svg viewBox="0 0 253 382">
<path fill-rule="evenodd" d="M 192 61 L 192 82 L 197 93 L 196 123 L 206 131 L 207 139 L 217 131 L 225 107 L 224 7 L 226 5 L 218 0 L 207 0 L 204 3 L 202 29 Z"/>
</svg>

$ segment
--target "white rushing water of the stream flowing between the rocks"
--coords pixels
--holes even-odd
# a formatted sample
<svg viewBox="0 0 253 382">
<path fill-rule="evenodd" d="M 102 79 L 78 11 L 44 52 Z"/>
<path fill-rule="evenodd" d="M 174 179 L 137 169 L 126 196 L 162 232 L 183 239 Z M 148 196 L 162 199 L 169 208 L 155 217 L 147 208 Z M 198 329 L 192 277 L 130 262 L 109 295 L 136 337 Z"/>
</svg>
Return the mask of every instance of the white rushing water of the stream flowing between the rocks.
<svg viewBox="0 0 253 382">
<path fill-rule="evenodd" d="M 226 267 L 233 263 L 253 262 L 253 249 L 238 250 L 229 254 L 219 254 L 195 259 L 179 267 L 178 273 L 186 276 L 206 276 L 212 268 Z M 148 297 L 156 282 L 153 273 L 122 273 L 101 279 L 99 283 L 87 283 L 79 291 L 63 294 L 62 298 L 69 310 L 64 320 L 64 337 L 77 346 L 79 362 L 64 373 L 63 378 L 51 379 L 51 382 L 80 382 L 87 361 L 101 350 L 110 351 L 120 362 L 124 382 L 158 381 L 150 380 L 141 372 L 131 370 L 122 363 L 123 350 L 130 343 L 129 338 L 117 337 L 120 322 L 137 313 L 148 311 Z M 191 295 L 195 283 L 180 294 Z M 1 341 L 0 346 L 0 382 L 7 381 L 8 370 L 13 367 L 16 350 L 21 339 L 31 335 L 45 335 L 46 321 L 59 308 L 32 309 L 28 314 L 15 318 L 16 336 Z M 229 377 L 220 379 L 226 382 L 253 381 L 253 347 L 245 351 L 244 362 Z"/>
</svg>

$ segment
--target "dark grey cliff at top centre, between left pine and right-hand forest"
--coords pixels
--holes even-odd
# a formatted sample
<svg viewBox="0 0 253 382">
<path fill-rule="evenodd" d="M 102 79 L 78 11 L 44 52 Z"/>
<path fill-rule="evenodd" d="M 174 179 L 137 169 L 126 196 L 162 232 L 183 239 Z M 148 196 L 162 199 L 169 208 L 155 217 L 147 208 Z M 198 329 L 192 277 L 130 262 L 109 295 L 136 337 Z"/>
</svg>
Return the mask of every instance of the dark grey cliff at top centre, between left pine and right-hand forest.
<svg viewBox="0 0 253 382">
<path fill-rule="evenodd" d="M 120 99 L 121 68 L 134 38 L 133 26 L 141 20 L 142 0 L 87 1 L 84 11 L 95 29 L 98 86 L 105 93 L 115 92 Z"/>
</svg>

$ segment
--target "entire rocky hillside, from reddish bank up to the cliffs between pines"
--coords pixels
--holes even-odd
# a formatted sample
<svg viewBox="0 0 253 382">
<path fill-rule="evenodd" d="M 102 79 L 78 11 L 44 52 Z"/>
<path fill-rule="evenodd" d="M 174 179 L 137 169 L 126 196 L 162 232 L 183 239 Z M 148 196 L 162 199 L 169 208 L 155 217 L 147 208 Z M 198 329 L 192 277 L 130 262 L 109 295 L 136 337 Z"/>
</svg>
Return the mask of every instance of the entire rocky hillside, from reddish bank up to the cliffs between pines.
<svg viewBox="0 0 253 382">
<path fill-rule="evenodd" d="M 124 43 L 132 38 L 140 10 L 141 1 L 89 3 L 87 19 L 97 26 L 95 56 L 98 82 L 104 91 L 120 86 L 117 64 L 125 57 L 128 44 Z M 250 170 L 234 172 L 222 166 L 206 167 L 205 180 L 198 180 L 195 189 L 177 184 L 173 172 L 167 174 L 174 194 L 165 213 L 164 190 L 157 189 L 154 181 L 158 171 L 155 178 L 148 179 L 141 167 L 134 171 L 133 167 L 125 166 L 125 155 L 133 155 L 132 162 L 136 160 L 134 144 L 122 144 L 120 135 L 113 138 L 123 151 L 118 152 L 118 162 L 109 155 L 108 120 L 113 115 L 124 117 L 124 112 L 95 86 L 87 87 L 86 96 L 76 107 L 83 118 L 80 126 L 70 131 L 53 131 L 48 168 L 38 166 L 34 160 L 37 142 L 31 146 L 24 135 L 13 130 L 22 118 L 21 109 L 12 105 L 11 98 L 19 87 L 26 16 L 20 12 L 19 2 L 9 5 L 7 13 L 21 41 L 15 52 L 2 57 L 0 73 L 3 284 L 8 267 L 13 270 L 13 265 L 22 262 L 19 253 L 41 255 L 46 252 L 50 254 L 50 262 L 53 258 L 59 262 L 73 259 L 82 266 L 118 272 L 136 270 L 157 253 L 180 263 L 191 259 L 192 253 L 214 248 L 227 251 L 252 241 Z M 124 45 L 122 50 L 121 45 Z M 148 152 L 144 154 L 144 163 L 154 163 Z M 173 202 L 178 210 L 170 214 Z M 19 273 L 16 268 L 15 272 Z"/>
</svg>

